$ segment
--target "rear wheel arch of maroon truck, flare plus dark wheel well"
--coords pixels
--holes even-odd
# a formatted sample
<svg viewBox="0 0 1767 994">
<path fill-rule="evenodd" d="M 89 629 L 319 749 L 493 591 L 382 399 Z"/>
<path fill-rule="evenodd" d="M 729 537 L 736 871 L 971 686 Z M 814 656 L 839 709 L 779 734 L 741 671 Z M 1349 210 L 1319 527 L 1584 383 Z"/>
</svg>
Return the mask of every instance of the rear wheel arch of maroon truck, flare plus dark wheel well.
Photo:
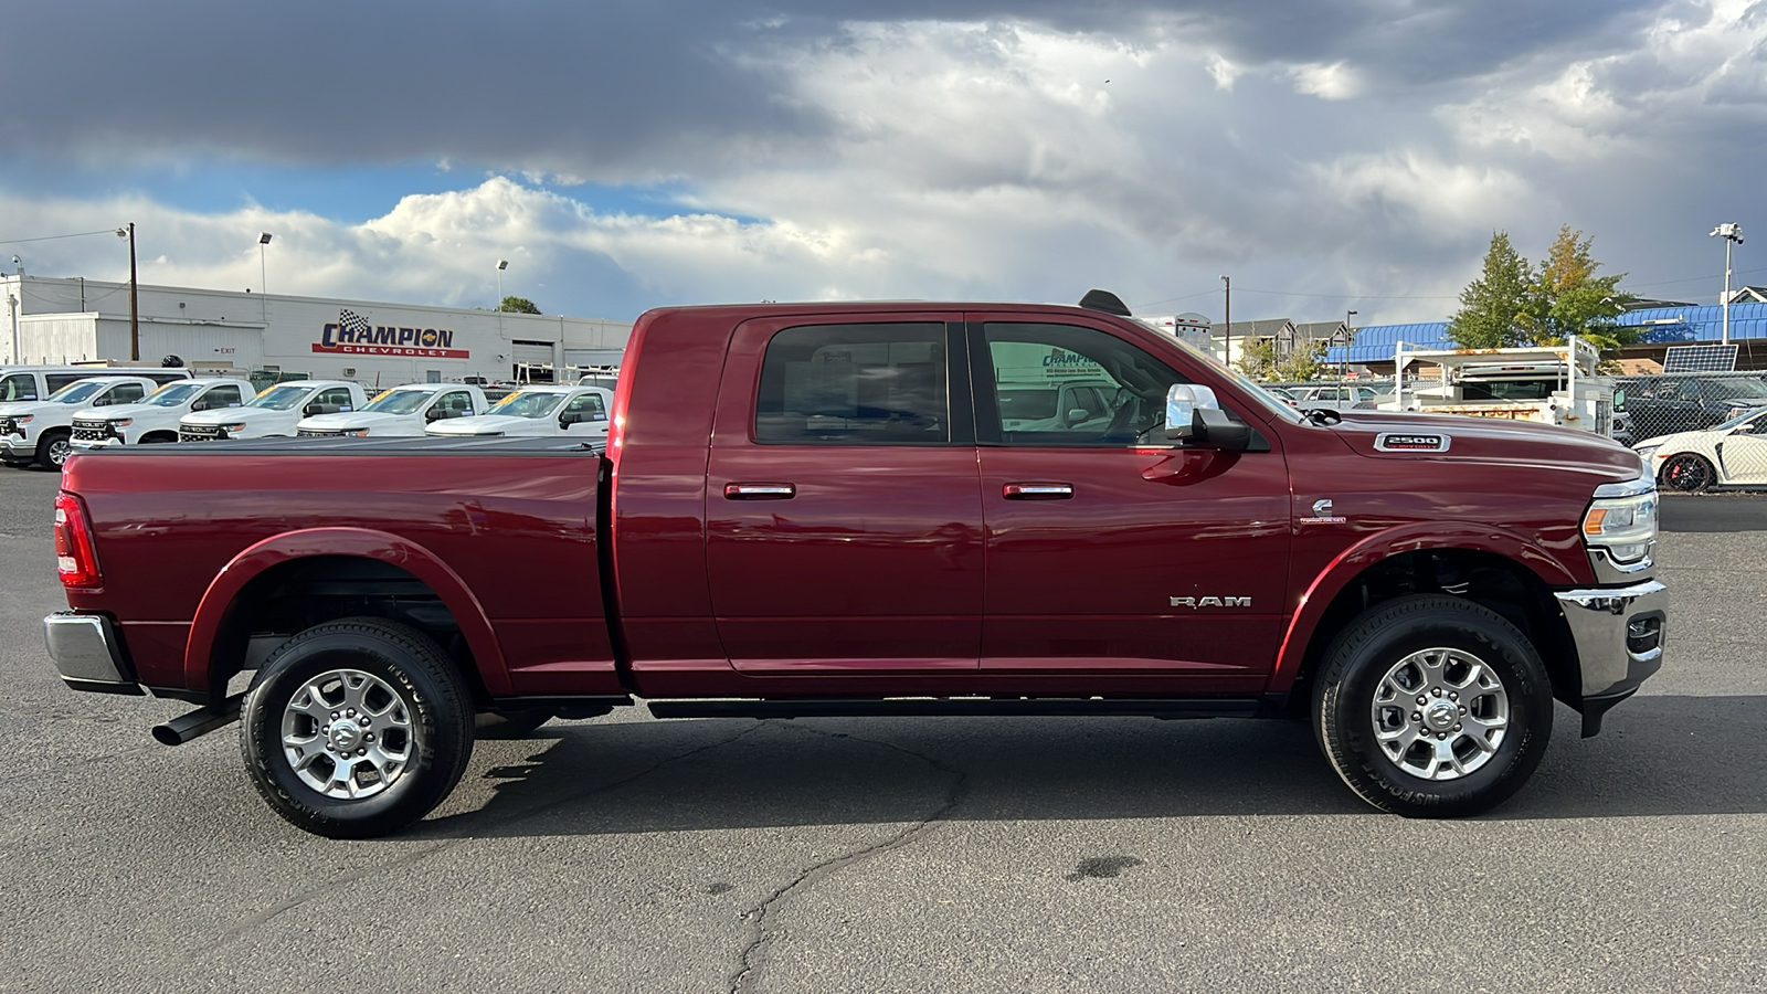
<svg viewBox="0 0 1767 994">
<path fill-rule="evenodd" d="M 491 623 L 459 575 L 406 538 L 355 527 L 283 532 L 235 555 L 209 584 L 191 621 L 186 686 L 224 695 L 263 612 L 274 610 L 277 600 L 300 596 L 336 600 L 336 607 L 316 608 L 315 617 L 380 616 L 413 624 L 454 654 L 475 692 L 512 692 Z M 424 612 L 413 610 L 426 596 L 445 612 L 445 624 L 435 617 L 426 623 Z M 458 631 L 458 646 L 451 646 L 456 640 L 449 628 Z"/>
</svg>

